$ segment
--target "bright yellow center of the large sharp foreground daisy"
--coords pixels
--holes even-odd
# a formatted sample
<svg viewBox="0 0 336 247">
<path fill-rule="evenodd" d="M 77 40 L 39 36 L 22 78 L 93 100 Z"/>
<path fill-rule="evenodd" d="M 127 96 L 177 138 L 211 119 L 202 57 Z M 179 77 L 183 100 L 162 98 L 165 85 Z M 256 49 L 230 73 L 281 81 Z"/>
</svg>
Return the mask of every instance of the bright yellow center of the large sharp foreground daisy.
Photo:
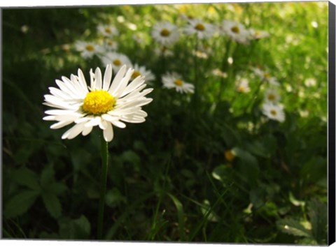
<svg viewBox="0 0 336 247">
<path fill-rule="evenodd" d="M 95 90 L 87 93 L 82 107 L 84 112 L 101 115 L 112 110 L 115 104 L 116 99 L 109 92 Z"/>
</svg>

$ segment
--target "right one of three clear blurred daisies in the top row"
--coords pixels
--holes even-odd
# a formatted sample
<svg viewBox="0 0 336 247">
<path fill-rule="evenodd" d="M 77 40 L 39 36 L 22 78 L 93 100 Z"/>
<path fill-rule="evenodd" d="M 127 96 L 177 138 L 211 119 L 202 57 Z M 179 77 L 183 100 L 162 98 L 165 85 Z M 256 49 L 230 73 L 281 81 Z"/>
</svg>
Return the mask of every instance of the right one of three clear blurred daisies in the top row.
<svg viewBox="0 0 336 247">
<path fill-rule="evenodd" d="M 250 33 L 245 29 L 243 24 L 230 20 L 223 20 L 222 25 L 219 28 L 237 43 L 248 43 Z"/>
</svg>

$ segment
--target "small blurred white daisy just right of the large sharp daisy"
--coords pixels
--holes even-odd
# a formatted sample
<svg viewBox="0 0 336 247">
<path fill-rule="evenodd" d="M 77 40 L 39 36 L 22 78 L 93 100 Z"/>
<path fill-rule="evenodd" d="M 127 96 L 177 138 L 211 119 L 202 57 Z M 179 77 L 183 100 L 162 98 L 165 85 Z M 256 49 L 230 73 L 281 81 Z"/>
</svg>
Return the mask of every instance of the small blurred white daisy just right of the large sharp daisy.
<svg viewBox="0 0 336 247">
<path fill-rule="evenodd" d="M 178 73 L 166 73 L 162 76 L 163 87 L 167 89 L 176 89 L 179 93 L 194 93 L 193 84 L 184 82 Z"/>
</svg>

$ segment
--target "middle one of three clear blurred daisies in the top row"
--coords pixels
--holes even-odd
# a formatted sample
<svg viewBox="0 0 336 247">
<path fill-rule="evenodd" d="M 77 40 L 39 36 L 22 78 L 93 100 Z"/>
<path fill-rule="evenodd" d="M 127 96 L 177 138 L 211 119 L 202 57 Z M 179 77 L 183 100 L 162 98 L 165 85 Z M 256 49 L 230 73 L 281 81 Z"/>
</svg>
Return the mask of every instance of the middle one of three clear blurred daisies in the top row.
<svg viewBox="0 0 336 247">
<path fill-rule="evenodd" d="M 205 23 L 200 19 L 193 19 L 189 20 L 187 26 L 185 27 L 184 31 L 188 35 L 197 35 L 197 38 L 204 39 L 204 38 L 211 38 L 214 35 L 215 28 L 214 25 Z"/>
</svg>

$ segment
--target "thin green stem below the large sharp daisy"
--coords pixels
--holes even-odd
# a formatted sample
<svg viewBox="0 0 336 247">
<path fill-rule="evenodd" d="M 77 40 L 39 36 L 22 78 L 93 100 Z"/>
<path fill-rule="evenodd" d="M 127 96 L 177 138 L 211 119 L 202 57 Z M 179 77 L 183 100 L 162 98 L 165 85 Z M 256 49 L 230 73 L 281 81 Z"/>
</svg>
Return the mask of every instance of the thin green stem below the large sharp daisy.
<svg viewBox="0 0 336 247">
<path fill-rule="evenodd" d="M 109 169 L 109 142 L 104 140 L 102 134 L 102 177 L 100 185 L 99 211 L 98 211 L 98 230 L 97 239 L 103 237 L 104 204 L 106 194 L 107 170 Z"/>
</svg>

